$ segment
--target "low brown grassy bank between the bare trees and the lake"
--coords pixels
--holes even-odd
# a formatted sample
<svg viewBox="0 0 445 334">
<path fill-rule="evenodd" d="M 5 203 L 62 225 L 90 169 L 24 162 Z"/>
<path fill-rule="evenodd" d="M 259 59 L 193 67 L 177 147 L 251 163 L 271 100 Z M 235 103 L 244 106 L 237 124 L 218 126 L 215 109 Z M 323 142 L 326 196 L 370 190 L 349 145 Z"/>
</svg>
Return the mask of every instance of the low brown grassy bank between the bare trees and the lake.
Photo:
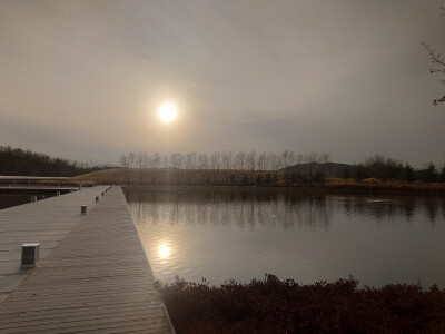
<svg viewBox="0 0 445 334">
<path fill-rule="evenodd" d="M 55 181 L 51 185 L 55 184 Z M 116 168 L 70 178 L 66 185 L 170 185 L 170 186 L 256 186 L 323 188 L 353 191 L 409 191 L 445 195 L 445 183 L 380 180 L 367 178 L 320 178 L 319 176 L 289 179 L 289 174 L 275 170 L 187 170 L 187 169 L 130 169 Z"/>
</svg>

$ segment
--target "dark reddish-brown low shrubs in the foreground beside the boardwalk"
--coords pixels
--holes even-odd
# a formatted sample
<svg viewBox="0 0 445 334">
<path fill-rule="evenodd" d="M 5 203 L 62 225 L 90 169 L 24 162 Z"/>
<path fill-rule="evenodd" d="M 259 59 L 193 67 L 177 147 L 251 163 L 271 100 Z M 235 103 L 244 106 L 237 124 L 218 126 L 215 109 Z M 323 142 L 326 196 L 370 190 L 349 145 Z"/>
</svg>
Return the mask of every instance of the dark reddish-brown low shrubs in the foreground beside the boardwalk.
<svg viewBox="0 0 445 334">
<path fill-rule="evenodd" d="M 445 289 L 339 279 L 157 283 L 177 333 L 445 333 Z"/>
</svg>

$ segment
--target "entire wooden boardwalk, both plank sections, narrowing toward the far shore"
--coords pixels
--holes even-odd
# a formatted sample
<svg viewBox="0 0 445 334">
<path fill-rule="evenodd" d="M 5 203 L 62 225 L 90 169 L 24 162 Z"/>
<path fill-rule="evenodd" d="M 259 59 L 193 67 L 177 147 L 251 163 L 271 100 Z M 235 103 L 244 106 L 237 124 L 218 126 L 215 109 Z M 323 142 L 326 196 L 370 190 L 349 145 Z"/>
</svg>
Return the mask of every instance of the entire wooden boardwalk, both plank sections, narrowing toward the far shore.
<svg viewBox="0 0 445 334">
<path fill-rule="evenodd" d="M 3 277 L 23 276 L 0 303 L 0 333 L 174 332 L 121 188 L 93 203 L 101 190 L 0 212 L 1 249 L 12 252 L 0 268 Z M 80 215 L 86 199 L 88 213 Z M 26 223 L 37 217 L 38 224 Z M 43 248 L 31 273 L 17 265 L 23 242 L 41 242 Z"/>
</svg>

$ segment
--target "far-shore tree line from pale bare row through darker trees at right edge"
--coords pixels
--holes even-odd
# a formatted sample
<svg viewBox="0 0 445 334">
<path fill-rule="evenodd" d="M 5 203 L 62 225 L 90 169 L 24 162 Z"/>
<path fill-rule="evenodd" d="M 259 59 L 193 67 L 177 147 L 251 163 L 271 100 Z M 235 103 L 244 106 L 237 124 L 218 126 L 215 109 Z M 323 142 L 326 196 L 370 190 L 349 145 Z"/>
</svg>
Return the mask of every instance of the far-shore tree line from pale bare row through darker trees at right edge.
<svg viewBox="0 0 445 334">
<path fill-rule="evenodd" d="M 416 169 L 408 163 L 378 154 L 364 163 L 345 165 L 330 163 L 328 154 L 296 154 L 288 149 L 280 154 L 225 150 L 150 155 L 139 151 L 122 154 L 120 166 L 128 171 L 139 170 L 139 179 L 148 178 L 145 181 L 150 184 L 291 185 L 324 181 L 326 177 L 445 181 L 445 165 L 437 168 L 428 163 Z"/>
</svg>

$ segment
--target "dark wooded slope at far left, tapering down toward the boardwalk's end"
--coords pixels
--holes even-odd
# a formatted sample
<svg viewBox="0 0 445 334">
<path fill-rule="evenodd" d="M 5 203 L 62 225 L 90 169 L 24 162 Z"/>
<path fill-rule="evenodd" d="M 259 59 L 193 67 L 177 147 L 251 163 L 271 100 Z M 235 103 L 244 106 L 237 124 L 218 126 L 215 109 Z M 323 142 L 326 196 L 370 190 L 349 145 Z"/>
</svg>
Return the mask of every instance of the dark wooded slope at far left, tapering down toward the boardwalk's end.
<svg viewBox="0 0 445 334">
<path fill-rule="evenodd" d="M 71 161 L 21 148 L 0 146 L 0 175 L 77 176 L 100 169 L 103 167 L 92 161 Z"/>
</svg>

